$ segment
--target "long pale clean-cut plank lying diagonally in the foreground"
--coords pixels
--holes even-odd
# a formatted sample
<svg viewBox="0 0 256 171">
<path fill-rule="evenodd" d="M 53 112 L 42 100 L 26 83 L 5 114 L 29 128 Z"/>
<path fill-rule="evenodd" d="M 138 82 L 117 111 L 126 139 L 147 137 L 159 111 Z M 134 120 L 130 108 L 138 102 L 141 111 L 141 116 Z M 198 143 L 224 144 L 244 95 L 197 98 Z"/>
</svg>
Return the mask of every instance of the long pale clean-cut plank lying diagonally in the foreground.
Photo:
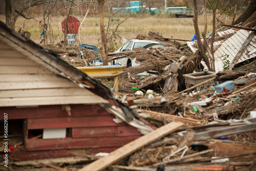
<svg viewBox="0 0 256 171">
<path fill-rule="evenodd" d="M 159 129 L 148 133 L 118 149 L 116 149 L 114 152 L 110 153 L 108 156 L 102 157 L 89 165 L 79 169 L 78 171 L 87 171 L 87 170 L 102 170 L 111 164 L 123 159 L 126 156 L 129 156 L 130 154 L 136 152 L 141 147 L 150 144 L 151 142 L 156 141 L 158 138 L 164 137 L 165 135 L 172 133 L 179 127 L 181 127 L 183 123 L 180 122 L 171 122 L 168 123 Z"/>
</svg>

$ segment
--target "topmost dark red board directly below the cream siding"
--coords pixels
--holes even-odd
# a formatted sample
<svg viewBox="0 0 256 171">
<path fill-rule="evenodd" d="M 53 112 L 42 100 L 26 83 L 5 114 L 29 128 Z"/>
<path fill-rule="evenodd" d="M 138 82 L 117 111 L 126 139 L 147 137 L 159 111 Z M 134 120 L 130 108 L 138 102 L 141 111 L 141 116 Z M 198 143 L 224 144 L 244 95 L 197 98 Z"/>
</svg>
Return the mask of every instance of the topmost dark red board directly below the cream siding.
<svg viewBox="0 0 256 171">
<path fill-rule="evenodd" d="M 0 113 L 7 113 L 8 119 L 70 117 L 61 108 L 62 105 L 41 105 L 33 108 L 3 107 L 0 108 Z M 70 108 L 73 117 L 112 115 L 98 105 L 70 104 Z M 4 115 L 0 115 L 0 119 L 4 119 Z"/>
</svg>

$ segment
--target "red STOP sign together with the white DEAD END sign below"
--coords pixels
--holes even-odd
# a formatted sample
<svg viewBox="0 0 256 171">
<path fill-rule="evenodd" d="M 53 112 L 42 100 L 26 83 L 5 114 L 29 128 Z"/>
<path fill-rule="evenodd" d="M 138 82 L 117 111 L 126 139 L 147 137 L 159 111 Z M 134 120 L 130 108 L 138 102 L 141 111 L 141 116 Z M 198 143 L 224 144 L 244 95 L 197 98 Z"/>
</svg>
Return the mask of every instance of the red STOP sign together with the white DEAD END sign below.
<svg viewBox="0 0 256 171">
<path fill-rule="evenodd" d="M 67 17 L 61 22 L 62 33 L 65 33 L 66 20 L 67 20 Z M 75 35 L 78 34 L 79 26 L 80 26 L 79 19 L 75 16 L 69 16 L 68 30 L 67 30 L 68 45 L 76 45 Z"/>
</svg>

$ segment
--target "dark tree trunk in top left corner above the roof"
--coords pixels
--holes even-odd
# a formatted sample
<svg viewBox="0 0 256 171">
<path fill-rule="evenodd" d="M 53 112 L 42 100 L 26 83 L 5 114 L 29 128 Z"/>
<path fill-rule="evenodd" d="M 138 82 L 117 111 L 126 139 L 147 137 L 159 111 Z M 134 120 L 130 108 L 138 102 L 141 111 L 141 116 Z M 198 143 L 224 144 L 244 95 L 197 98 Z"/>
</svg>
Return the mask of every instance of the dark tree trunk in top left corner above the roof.
<svg viewBox="0 0 256 171">
<path fill-rule="evenodd" d="M 15 30 L 13 0 L 5 1 L 5 20 L 6 25 Z"/>
</svg>

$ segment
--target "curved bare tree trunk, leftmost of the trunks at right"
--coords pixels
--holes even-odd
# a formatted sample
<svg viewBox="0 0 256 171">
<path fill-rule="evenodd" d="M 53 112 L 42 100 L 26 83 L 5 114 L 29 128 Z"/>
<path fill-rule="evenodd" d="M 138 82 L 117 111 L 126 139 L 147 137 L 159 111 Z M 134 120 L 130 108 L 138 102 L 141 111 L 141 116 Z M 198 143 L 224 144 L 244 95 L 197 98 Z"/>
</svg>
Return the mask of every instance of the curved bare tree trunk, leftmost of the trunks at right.
<svg viewBox="0 0 256 171">
<path fill-rule="evenodd" d="M 198 44 L 198 47 L 199 47 L 200 54 L 203 57 L 203 60 L 205 61 L 208 69 L 211 70 L 208 57 L 206 56 L 206 54 L 204 52 L 204 47 L 203 47 L 203 44 L 202 44 L 202 41 L 201 41 L 201 38 L 200 38 L 200 32 L 199 32 L 199 27 L 198 27 L 197 0 L 193 0 L 193 2 L 194 2 L 194 18 L 193 18 L 193 23 L 194 23 L 195 32 L 196 32 L 196 35 L 197 35 L 197 44 Z"/>
</svg>

